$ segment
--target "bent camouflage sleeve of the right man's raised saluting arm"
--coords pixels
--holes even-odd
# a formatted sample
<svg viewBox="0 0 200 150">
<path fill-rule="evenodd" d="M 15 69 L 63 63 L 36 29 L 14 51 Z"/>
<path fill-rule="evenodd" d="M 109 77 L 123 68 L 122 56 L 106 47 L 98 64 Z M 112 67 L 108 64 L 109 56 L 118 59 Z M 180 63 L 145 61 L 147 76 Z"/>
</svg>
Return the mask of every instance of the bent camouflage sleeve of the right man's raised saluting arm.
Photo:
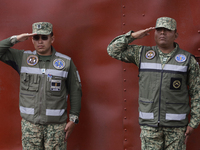
<svg viewBox="0 0 200 150">
<path fill-rule="evenodd" d="M 135 39 L 131 36 L 132 31 L 116 37 L 107 47 L 108 55 L 126 63 L 134 63 L 139 66 L 141 45 L 128 45 Z"/>
</svg>

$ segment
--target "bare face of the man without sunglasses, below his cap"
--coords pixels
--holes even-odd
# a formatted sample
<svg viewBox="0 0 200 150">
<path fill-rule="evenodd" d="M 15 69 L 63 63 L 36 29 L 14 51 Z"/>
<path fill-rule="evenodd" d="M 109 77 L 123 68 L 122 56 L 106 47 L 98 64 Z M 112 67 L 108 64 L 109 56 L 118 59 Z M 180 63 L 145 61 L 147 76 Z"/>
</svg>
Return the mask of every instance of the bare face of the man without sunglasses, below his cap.
<svg viewBox="0 0 200 150">
<path fill-rule="evenodd" d="M 172 46 L 175 39 L 178 37 L 178 33 L 166 28 L 157 28 L 155 30 L 155 41 L 159 47 L 167 48 Z"/>
</svg>

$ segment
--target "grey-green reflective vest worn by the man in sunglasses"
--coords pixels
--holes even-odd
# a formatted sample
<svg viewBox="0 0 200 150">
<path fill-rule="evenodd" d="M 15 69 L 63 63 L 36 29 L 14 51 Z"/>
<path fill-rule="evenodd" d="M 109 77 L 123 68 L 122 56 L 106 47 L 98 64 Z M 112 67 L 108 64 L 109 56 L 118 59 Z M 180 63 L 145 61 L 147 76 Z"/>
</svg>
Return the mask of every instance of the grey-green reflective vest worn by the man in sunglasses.
<svg viewBox="0 0 200 150">
<path fill-rule="evenodd" d="M 49 66 L 37 63 L 36 51 L 24 51 L 20 71 L 20 114 L 39 124 L 67 120 L 66 79 L 71 58 L 53 49 Z"/>
</svg>

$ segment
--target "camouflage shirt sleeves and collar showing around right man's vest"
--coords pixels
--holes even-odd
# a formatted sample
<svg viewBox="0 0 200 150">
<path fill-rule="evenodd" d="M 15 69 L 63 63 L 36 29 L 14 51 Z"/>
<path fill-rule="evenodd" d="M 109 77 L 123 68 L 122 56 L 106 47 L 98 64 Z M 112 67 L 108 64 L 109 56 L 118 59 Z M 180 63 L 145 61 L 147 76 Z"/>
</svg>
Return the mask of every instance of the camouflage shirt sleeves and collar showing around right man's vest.
<svg viewBox="0 0 200 150">
<path fill-rule="evenodd" d="M 140 64 L 140 53 L 142 50 L 141 45 L 129 45 L 135 39 L 131 36 L 132 31 L 124 35 L 120 35 L 113 39 L 107 47 L 108 55 L 111 57 L 121 60 L 126 63 L 133 63 L 137 67 Z M 174 51 L 177 49 L 177 45 Z M 162 66 L 167 63 L 173 54 L 173 52 L 167 55 L 167 60 L 163 61 L 162 52 L 159 51 L 159 57 L 161 58 Z M 164 55 L 164 54 L 163 54 Z M 199 74 L 199 65 L 197 61 L 192 56 L 188 68 L 188 85 L 189 85 L 189 95 L 191 97 L 191 118 L 189 126 L 192 128 L 197 128 L 200 123 L 200 74 Z"/>
</svg>

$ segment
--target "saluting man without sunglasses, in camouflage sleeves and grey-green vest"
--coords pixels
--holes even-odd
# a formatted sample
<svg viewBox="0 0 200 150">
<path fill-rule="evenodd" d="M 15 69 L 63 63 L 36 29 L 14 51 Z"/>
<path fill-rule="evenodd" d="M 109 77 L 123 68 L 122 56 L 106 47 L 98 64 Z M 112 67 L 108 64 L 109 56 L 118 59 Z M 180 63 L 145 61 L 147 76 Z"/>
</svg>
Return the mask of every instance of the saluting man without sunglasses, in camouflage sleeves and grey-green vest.
<svg viewBox="0 0 200 150">
<path fill-rule="evenodd" d="M 156 46 L 129 45 L 152 30 Z M 139 68 L 142 150 L 184 150 L 200 123 L 199 65 L 174 42 L 177 37 L 176 21 L 161 17 L 155 27 L 118 36 L 107 48 L 111 57 Z"/>
</svg>

